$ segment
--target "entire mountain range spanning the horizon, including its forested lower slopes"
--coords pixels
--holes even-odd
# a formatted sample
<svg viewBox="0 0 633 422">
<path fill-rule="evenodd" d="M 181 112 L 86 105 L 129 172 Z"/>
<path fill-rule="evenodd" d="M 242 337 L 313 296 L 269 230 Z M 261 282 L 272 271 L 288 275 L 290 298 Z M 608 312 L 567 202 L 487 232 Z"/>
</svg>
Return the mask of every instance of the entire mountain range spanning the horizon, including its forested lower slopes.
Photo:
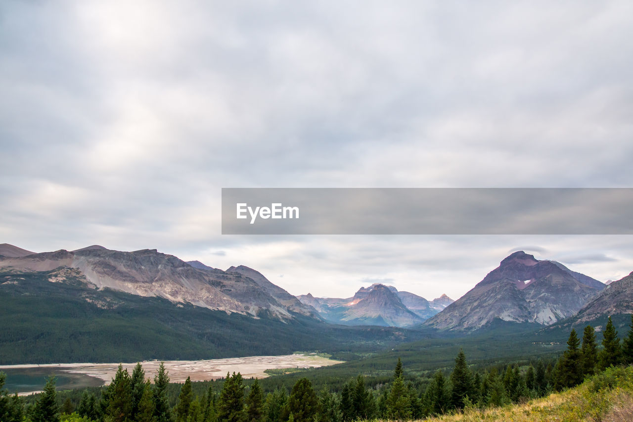
<svg viewBox="0 0 633 422">
<path fill-rule="evenodd" d="M 633 313 L 633 273 L 605 285 L 519 251 L 456 301 L 446 295 L 429 301 L 380 283 L 350 298 L 294 297 L 244 265 L 223 271 L 154 249 L 92 245 L 34 253 L 4 243 L 0 301 L 5 363 L 28 356 L 32 362 L 135 354 L 197 359 L 373 348 L 431 333 L 467 334 L 499 321 L 535 329 L 599 321 Z M 115 331 L 138 341 L 121 342 Z M 59 346 L 66 344 L 67 350 Z"/>
</svg>

